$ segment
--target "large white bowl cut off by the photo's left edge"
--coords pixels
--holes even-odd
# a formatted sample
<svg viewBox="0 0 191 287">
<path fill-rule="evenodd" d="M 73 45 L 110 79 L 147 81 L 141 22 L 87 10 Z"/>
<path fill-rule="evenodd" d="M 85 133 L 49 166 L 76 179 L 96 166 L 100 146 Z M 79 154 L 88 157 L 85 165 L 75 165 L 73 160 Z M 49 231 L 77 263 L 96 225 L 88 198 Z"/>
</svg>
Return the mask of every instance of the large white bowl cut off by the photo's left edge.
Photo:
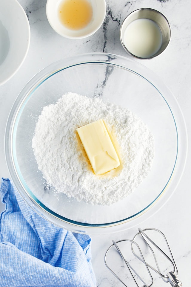
<svg viewBox="0 0 191 287">
<path fill-rule="evenodd" d="M 0 0 L 0 85 L 21 67 L 30 44 L 30 26 L 16 0 Z"/>
</svg>

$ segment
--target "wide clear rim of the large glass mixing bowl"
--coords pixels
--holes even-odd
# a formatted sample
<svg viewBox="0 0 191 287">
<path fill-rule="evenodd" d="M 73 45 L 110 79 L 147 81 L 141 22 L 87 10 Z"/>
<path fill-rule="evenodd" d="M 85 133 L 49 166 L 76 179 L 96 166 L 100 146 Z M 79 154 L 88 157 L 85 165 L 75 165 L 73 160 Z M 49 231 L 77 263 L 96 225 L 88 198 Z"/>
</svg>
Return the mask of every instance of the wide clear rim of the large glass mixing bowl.
<svg viewBox="0 0 191 287">
<path fill-rule="evenodd" d="M 81 57 L 86 60 L 88 59 L 89 61 L 82 62 L 81 60 L 79 60 Z M 176 126 L 177 133 L 178 133 L 177 136 L 180 135 L 179 137 L 180 141 L 178 142 L 179 146 L 177 149 L 178 161 L 176 158 L 176 162 L 175 162 L 176 169 L 173 170 L 173 175 L 178 173 L 179 176 L 178 178 L 176 176 L 176 180 L 174 180 L 175 176 L 173 176 L 173 181 L 171 181 L 171 193 L 170 194 L 167 188 L 167 184 L 169 182 L 167 182 L 164 189 L 161 191 L 161 193 L 157 196 L 157 198 L 153 202 L 151 202 L 147 207 L 144 207 L 139 213 L 131 216 L 130 218 L 119 220 L 116 222 L 104 223 L 104 224 L 86 224 L 82 222 L 75 222 L 73 220 L 63 218 L 63 217 L 58 218 L 56 213 L 51 211 L 51 214 L 50 214 L 50 210 L 48 209 L 44 210 L 43 204 L 38 199 L 35 199 L 34 201 L 34 195 L 31 196 L 30 192 L 29 194 L 26 193 L 26 190 L 25 190 L 26 187 L 24 186 L 24 183 L 21 182 L 21 180 L 18 178 L 17 173 L 14 169 L 12 140 L 14 136 L 13 129 L 14 129 L 14 124 L 16 122 L 17 115 L 22 107 L 22 103 L 24 99 L 28 96 L 28 94 L 34 91 L 38 87 L 39 83 L 43 83 L 47 78 L 51 77 L 52 74 L 58 73 L 58 71 L 60 71 L 60 69 L 56 69 L 58 65 L 61 65 L 61 69 L 66 69 L 71 66 L 71 65 L 67 65 L 68 62 L 71 63 L 71 60 L 73 61 L 73 65 L 79 65 L 79 63 L 81 62 L 83 64 L 86 64 L 86 63 L 107 64 L 108 62 L 115 63 L 116 59 L 120 60 L 121 64 L 118 65 L 120 67 L 126 68 L 125 65 L 133 64 L 133 66 L 135 65 L 135 67 L 140 68 L 140 71 L 142 72 L 145 72 L 145 69 L 146 69 L 147 73 L 152 77 L 152 79 L 154 76 L 154 79 L 156 80 L 157 84 L 155 88 L 157 88 L 158 84 L 162 83 L 163 85 L 162 90 L 164 89 L 166 92 L 170 93 L 171 100 L 175 104 L 175 107 L 173 106 L 173 109 L 174 109 L 173 115 L 175 115 L 175 118 L 177 118 L 177 122 L 175 122 L 175 124 L 178 123 L 178 126 Z M 52 74 L 48 72 L 50 68 L 53 69 Z M 153 85 L 152 82 L 150 83 Z M 160 88 L 157 88 L 157 90 L 161 94 Z M 182 139 L 183 139 L 183 142 L 181 142 Z M 182 144 L 184 144 L 184 148 Z M 153 71 L 146 68 L 144 65 L 137 63 L 132 59 L 128 59 L 126 57 L 122 57 L 122 56 L 115 55 L 115 54 L 108 54 L 108 53 L 87 53 L 87 54 L 76 55 L 70 58 L 64 58 L 57 62 L 52 63 L 51 65 L 47 66 L 43 70 L 39 71 L 22 89 L 22 91 L 20 92 L 20 94 L 18 95 L 17 99 L 15 100 L 12 106 L 12 109 L 7 119 L 4 145 L 5 145 L 5 158 L 6 158 L 7 167 L 10 172 L 11 178 L 16 188 L 18 189 L 19 193 L 21 194 L 22 198 L 27 202 L 27 204 L 30 205 L 30 207 L 33 210 L 35 210 L 40 216 L 44 217 L 48 221 L 62 228 L 66 228 L 68 230 L 72 230 L 78 233 L 88 232 L 88 233 L 96 233 L 96 234 L 98 234 L 98 232 L 103 233 L 103 230 L 105 233 L 113 233 L 113 232 L 129 229 L 135 225 L 138 225 L 140 222 L 143 222 L 144 220 L 152 216 L 154 213 L 156 213 L 170 199 L 176 187 L 178 186 L 178 183 L 181 179 L 181 176 L 183 174 L 184 167 L 186 164 L 187 146 L 188 146 L 187 145 L 187 129 L 186 129 L 186 124 L 184 121 L 183 114 L 181 112 L 181 109 L 179 107 L 177 100 L 172 95 L 172 93 L 167 88 L 167 86 L 163 82 L 161 82 L 161 80 L 156 74 L 153 74 Z M 155 205 L 155 210 L 153 209 L 154 205 Z"/>
</svg>

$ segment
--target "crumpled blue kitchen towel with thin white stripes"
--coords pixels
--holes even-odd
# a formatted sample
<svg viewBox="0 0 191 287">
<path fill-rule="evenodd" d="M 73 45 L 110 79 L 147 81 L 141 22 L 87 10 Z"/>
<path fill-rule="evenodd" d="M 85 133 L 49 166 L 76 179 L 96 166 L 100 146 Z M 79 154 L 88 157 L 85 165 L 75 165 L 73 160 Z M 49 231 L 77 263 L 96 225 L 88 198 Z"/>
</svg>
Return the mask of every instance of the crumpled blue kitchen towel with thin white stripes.
<svg viewBox="0 0 191 287">
<path fill-rule="evenodd" d="M 73 235 L 35 213 L 9 179 L 2 178 L 1 287 L 92 287 L 91 238 Z"/>
</svg>

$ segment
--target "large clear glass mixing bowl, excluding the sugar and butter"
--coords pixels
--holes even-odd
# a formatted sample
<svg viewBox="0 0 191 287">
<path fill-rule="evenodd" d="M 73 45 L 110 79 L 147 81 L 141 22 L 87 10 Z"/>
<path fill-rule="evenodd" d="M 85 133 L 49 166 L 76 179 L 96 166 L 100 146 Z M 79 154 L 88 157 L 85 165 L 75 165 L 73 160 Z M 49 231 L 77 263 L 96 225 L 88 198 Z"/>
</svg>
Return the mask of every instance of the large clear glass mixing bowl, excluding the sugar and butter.
<svg viewBox="0 0 191 287">
<path fill-rule="evenodd" d="M 127 107 L 152 131 L 155 158 L 149 175 L 126 199 L 91 205 L 53 192 L 35 160 L 32 138 L 44 106 L 67 92 Z M 152 216 L 174 192 L 187 156 L 187 131 L 175 97 L 143 65 L 113 54 L 81 54 L 36 74 L 17 97 L 6 127 L 5 154 L 11 178 L 23 199 L 50 222 L 75 232 L 111 233 Z"/>
</svg>

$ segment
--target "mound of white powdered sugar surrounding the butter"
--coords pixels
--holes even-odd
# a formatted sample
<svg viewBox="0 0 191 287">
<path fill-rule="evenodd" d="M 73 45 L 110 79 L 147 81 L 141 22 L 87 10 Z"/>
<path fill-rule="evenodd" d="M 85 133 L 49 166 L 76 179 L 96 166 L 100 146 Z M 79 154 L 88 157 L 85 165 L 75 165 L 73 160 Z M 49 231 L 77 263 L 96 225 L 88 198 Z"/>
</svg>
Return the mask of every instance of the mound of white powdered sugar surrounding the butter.
<svg viewBox="0 0 191 287">
<path fill-rule="evenodd" d="M 95 175 L 84 157 L 76 129 L 103 119 L 115 138 L 121 165 Z M 148 175 L 154 158 L 153 135 L 128 109 L 99 98 L 64 94 L 45 106 L 36 123 L 32 147 L 39 170 L 56 193 L 90 204 L 113 204 Z"/>
</svg>

